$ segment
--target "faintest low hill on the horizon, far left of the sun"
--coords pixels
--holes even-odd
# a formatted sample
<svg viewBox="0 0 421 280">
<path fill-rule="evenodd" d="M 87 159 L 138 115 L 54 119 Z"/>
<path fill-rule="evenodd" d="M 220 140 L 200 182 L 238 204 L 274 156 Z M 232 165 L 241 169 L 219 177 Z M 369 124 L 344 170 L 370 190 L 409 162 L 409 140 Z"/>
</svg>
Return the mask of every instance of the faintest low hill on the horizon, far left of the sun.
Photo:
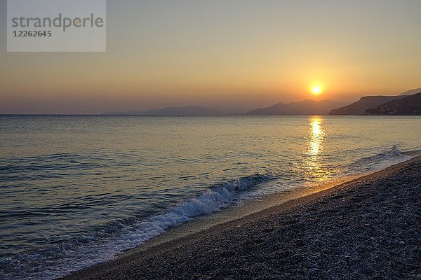
<svg viewBox="0 0 421 280">
<path fill-rule="evenodd" d="M 151 109 L 128 112 L 105 112 L 102 115 L 109 116 L 215 116 L 221 115 L 217 110 L 202 106 L 166 107 L 163 109 Z"/>
</svg>

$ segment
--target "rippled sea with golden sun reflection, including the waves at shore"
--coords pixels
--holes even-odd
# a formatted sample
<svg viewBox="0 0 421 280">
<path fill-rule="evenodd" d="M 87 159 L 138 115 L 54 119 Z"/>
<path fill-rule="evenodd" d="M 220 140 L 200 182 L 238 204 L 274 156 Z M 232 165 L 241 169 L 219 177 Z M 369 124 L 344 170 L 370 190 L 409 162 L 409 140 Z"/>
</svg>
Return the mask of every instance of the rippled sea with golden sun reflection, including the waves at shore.
<svg viewBox="0 0 421 280">
<path fill-rule="evenodd" d="M 419 117 L 0 116 L 0 279 L 53 279 L 244 200 L 406 160 Z"/>
</svg>

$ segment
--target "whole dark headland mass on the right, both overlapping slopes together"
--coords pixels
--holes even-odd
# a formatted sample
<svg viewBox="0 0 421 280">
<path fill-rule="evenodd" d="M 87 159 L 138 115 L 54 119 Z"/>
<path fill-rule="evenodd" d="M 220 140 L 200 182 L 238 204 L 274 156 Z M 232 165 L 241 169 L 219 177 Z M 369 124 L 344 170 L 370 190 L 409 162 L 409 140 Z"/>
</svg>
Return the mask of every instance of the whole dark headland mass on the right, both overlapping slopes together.
<svg viewBox="0 0 421 280">
<path fill-rule="evenodd" d="M 418 115 L 417 106 L 420 106 L 420 100 L 416 96 L 419 92 L 421 88 L 408 90 L 397 96 L 361 97 L 358 102 L 333 109 L 329 115 Z"/>
</svg>

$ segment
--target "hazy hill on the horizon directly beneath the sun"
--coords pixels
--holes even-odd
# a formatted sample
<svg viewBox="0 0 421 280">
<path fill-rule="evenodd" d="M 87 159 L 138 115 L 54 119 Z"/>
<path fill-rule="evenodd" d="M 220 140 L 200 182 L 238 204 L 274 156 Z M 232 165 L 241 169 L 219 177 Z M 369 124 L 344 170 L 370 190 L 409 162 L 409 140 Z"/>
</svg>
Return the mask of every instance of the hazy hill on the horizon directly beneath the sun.
<svg viewBox="0 0 421 280">
<path fill-rule="evenodd" d="M 347 103 L 330 100 L 314 101 L 307 99 L 303 102 L 276 104 L 267 108 L 255 109 L 246 115 L 327 115 L 333 108 L 344 106 Z"/>
</svg>

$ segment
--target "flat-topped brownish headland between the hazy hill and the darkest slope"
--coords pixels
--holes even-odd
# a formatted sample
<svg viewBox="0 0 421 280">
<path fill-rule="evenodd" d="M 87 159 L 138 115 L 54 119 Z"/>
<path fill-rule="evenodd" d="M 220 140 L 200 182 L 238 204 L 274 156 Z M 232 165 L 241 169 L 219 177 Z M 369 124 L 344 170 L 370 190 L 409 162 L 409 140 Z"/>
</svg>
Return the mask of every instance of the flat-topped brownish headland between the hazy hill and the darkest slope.
<svg viewBox="0 0 421 280">
<path fill-rule="evenodd" d="M 401 99 L 403 96 L 368 96 L 361 97 L 359 101 L 338 109 L 330 111 L 329 115 L 363 115 L 367 109 L 373 109 L 386 102 Z"/>
</svg>

